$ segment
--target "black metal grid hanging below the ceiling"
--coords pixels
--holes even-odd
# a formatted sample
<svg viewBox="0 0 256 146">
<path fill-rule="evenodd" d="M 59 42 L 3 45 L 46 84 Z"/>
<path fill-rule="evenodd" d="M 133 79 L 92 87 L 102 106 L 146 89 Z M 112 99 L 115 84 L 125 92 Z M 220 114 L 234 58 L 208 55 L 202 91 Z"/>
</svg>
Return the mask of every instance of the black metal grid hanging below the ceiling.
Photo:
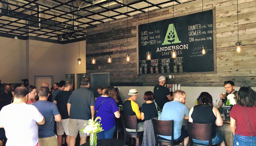
<svg viewBox="0 0 256 146">
<path fill-rule="evenodd" d="M 85 37 L 88 27 L 147 13 L 148 8 L 161 9 L 161 5 L 171 6 L 173 2 L 181 3 L 178 0 L 0 0 L 0 31 L 20 36 L 74 39 Z M 126 8 L 128 12 L 122 12 Z"/>
</svg>

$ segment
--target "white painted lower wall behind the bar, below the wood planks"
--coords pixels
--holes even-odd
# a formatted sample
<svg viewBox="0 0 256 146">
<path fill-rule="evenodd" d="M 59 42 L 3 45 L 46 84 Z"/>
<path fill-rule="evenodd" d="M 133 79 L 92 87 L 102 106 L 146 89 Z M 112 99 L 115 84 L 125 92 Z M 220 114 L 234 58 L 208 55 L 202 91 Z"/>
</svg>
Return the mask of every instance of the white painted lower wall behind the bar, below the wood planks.
<svg viewBox="0 0 256 146">
<path fill-rule="evenodd" d="M 143 103 L 145 103 L 143 99 L 143 95 L 146 91 L 152 91 L 154 92 L 153 86 L 147 86 L 147 87 L 119 87 L 120 88 L 120 96 L 122 98 L 122 101 L 124 102 L 125 99 L 128 99 L 128 93 L 130 89 L 137 89 L 139 95 L 136 100 L 136 103 L 141 106 Z M 256 91 L 256 87 L 252 87 L 254 91 Z M 198 98 L 201 92 L 208 92 L 211 94 L 212 98 L 219 100 L 219 95 L 221 92 L 224 92 L 224 87 L 180 87 L 180 90 L 183 90 L 186 92 L 186 105 L 188 108 L 191 108 L 195 104 L 195 100 Z M 239 87 L 235 87 L 235 90 L 239 90 Z M 215 103 L 216 104 L 216 103 Z"/>
</svg>

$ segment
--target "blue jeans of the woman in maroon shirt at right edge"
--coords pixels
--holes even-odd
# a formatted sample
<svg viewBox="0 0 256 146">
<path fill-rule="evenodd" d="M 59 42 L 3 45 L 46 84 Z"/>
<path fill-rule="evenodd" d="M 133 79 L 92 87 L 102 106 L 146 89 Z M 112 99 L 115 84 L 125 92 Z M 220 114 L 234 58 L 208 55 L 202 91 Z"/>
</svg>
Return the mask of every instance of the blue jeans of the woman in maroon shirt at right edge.
<svg viewBox="0 0 256 146">
<path fill-rule="evenodd" d="M 254 140 L 253 140 L 254 138 Z M 234 137 L 234 146 L 254 146 L 256 144 L 256 136 L 241 136 L 235 134 Z"/>
</svg>

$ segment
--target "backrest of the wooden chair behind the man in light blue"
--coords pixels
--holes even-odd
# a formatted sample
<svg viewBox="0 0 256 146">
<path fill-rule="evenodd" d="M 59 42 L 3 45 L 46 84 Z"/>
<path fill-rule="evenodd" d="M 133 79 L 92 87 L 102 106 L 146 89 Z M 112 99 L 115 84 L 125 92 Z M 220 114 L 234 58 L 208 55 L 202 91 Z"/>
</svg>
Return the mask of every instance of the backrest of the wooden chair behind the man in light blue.
<svg viewBox="0 0 256 146">
<path fill-rule="evenodd" d="M 152 119 L 154 131 L 157 135 L 173 136 L 173 120 L 162 121 Z"/>
</svg>

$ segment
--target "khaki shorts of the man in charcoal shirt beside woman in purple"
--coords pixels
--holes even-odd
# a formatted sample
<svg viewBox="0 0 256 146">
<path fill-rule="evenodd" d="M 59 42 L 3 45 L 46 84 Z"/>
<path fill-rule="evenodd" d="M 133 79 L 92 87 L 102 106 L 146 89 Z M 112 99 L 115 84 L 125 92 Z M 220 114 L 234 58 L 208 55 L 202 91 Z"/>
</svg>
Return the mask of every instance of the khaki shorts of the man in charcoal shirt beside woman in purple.
<svg viewBox="0 0 256 146">
<path fill-rule="evenodd" d="M 69 136 L 76 136 L 79 132 L 80 137 L 87 137 L 87 133 L 83 133 L 81 129 L 85 128 L 88 125 L 88 120 L 80 119 L 69 119 Z"/>
</svg>

